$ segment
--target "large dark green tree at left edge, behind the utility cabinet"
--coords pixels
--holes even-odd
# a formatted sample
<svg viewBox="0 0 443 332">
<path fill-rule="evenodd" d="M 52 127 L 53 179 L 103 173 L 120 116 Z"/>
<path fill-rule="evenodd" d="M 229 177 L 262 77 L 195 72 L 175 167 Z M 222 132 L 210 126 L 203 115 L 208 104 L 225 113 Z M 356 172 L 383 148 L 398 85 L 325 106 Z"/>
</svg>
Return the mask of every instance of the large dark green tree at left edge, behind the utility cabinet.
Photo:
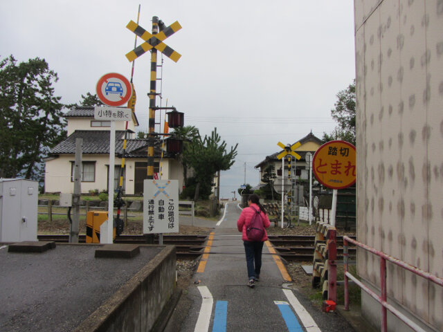
<svg viewBox="0 0 443 332">
<path fill-rule="evenodd" d="M 43 156 L 66 137 L 57 80 L 44 59 L 0 59 L 0 176 L 38 178 Z"/>
</svg>

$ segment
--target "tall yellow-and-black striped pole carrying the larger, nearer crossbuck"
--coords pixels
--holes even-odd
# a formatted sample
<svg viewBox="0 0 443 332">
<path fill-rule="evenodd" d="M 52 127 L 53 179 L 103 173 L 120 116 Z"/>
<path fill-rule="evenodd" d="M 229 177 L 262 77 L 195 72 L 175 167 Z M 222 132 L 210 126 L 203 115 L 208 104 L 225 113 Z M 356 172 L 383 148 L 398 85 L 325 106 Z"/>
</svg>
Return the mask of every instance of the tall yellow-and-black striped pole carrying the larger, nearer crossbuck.
<svg viewBox="0 0 443 332">
<path fill-rule="evenodd" d="M 159 32 L 159 17 L 152 17 L 152 35 Z M 155 130 L 155 101 L 157 83 L 157 50 L 151 50 L 151 84 L 150 84 L 150 118 L 149 131 L 147 137 L 147 178 L 154 178 L 154 130 Z"/>
</svg>

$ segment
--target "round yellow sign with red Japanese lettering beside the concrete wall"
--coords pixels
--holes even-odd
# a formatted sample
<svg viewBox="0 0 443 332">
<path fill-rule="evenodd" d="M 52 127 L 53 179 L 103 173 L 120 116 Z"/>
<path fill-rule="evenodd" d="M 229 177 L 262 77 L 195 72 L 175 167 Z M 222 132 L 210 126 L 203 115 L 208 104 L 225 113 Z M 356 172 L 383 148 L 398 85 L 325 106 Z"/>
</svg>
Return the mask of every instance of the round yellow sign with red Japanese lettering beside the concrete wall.
<svg viewBox="0 0 443 332">
<path fill-rule="evenodd" d="M 312 160 L 318 181 L 331 189 L 343 189 L 355 183 L 355 147 L 344 140 L 332 140 L 318 148 Z"/>
</svg>

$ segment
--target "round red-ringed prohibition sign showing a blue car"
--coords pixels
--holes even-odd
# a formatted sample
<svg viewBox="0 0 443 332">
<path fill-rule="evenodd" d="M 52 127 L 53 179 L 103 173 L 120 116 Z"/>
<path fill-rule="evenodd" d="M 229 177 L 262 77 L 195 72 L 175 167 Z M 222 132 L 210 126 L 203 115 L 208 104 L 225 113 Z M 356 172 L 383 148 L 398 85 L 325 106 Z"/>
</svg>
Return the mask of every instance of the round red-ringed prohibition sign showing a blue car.
<svg viewBox="0 0 443 332">
<path fill-rule="evenodd" d="M 97 95 L 108 106 L 121 106 L 126 104 L 132 95 L 129 80 L 118 73 L 103 75 L 97 82 Z"/>
</svg>

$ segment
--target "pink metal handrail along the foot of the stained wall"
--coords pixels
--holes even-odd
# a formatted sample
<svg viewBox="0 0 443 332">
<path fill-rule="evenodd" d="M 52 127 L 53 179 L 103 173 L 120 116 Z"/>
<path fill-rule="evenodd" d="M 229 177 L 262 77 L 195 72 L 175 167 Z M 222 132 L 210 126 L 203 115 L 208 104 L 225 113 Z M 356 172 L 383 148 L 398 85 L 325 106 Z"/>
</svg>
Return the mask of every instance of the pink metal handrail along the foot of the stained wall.
<svg viewBox="0 0 443 332">
<path fill-rule="evenodd" d="M 377 295 L 374 293 L 370 288 L 365 286 L 362 282 L 359 281 L 359 279 L 356 279 L 351 273 L 347 271 L 348 267 L 348 242 L 354 244 L 355 246 L 359 246 L 360 248 L 363 248 L 365 250 L 368 250 L 369 252 L 372 252 L 374 255 L 377 255 L 380 257 L 380 288 L 381 288 L 381 295 Z M 400 266 L 401 268 L 404 268 L 412 273 L 415 273 L 416 275 L 419 275 L 420 277 L 424 277 L 425 279 L 430 280 L 431 282 L 443 286 L 443 279 L 439 278 L 435 275 L 431 275 L 431 273 L 427 273 L 423 270 L 420 270 L 419 268 L 416 268 L 415 266 L 412 266 L 410 264 L 405 263 L 404 261 L 401 261 L 395 257 L 386 255 L 386 253 L 381 252 L 377 249 L 374 249 L 370 246 L 367 246 L 363 243 L 360 243 L 359 241 L 356 241 L 354 239 L 351 239 L 350 237 L 343 237 L 343 259 L 344 259 L 344 270 L 345 270 L 345 310 L 349 310 L 349 290 L 348 290 L 348 282 L 349 279 L 351 279 L 357 286 L 359 286 L 363 291 L 368 293 L 371 297 L 373 297 L 377 302 L 381 304 L 381 331 L 387 332 L 388 331 L 388 318 L 387 318 L 387 311 L 388 309 L 391 313 L 393 313 L 395 316 L 397 316 L 402 322 L 407 324 L 411 329 L 414 331 L 425 331 L 420 326 L 415 324 L 412 320 L 410 320 L 406 315 L 399 312 L 396 308 L 388 304 L 386 302 L 387 295 L 386 295 L 386 261 L 390 261 L 393 264 L 396 264 L 397 266 Z"/>
</svg>

